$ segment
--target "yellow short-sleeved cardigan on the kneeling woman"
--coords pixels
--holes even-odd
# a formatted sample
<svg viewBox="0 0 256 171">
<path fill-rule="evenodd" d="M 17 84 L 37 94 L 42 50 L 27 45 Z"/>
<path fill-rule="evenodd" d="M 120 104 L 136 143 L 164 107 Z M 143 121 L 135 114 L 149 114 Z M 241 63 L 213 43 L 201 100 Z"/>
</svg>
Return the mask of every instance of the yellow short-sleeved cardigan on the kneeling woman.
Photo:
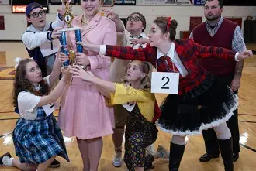
<svg viewBox="0 0 256 171">
<path fill-rule="evenodd" d="M 125 104 L 132 101 L 137 102 L 141 115 L 151 122 L 154 118 L 155 97 L 150 89 L 140 90 L 130 85 L 116 84 L 116 93 L 111 94 L 109 104 Z"/>
</svg>

